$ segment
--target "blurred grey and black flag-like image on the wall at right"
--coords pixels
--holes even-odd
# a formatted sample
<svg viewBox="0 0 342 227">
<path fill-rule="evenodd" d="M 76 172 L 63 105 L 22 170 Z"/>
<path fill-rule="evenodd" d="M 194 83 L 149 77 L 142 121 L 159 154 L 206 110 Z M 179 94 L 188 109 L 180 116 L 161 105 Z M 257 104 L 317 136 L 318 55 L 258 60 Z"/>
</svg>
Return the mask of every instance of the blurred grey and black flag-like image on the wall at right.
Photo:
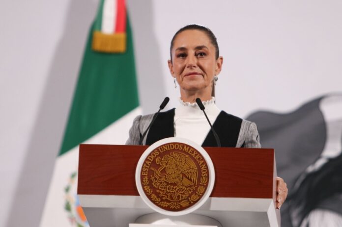
<svg viewBox="0 0 342 227">
<path fill-rule="evenodd" d="M 256 122 L 262 146 L 275 149 L 277 174 L 287 183 L 283 226 L 341 226 L 342 93 L 247 119 Z"/>
</svg>

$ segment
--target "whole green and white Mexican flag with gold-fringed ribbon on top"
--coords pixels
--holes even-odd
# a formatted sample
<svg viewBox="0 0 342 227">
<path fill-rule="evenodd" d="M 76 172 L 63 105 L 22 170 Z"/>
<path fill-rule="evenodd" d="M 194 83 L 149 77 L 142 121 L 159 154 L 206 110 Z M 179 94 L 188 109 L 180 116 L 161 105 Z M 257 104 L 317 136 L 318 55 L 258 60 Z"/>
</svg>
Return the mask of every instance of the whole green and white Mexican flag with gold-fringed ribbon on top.
<svg viewBox="0 0 342 227">
<path fill-rule="evenodd" d="M 90 28 L 41 227 L 86 227 L 77 199 L 80 143 L 124 144 L 139 108 L 124 0 L 101 0 Z"/>
</svg>

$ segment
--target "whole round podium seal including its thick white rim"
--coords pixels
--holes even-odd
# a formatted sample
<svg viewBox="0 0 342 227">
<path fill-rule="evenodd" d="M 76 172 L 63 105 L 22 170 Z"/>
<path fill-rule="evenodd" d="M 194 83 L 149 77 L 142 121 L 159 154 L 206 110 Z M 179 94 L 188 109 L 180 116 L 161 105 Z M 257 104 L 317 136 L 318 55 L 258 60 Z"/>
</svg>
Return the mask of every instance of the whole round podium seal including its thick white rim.
<svg viewBox="0 0 342 227">
<path fill-rule="evenodd" d="M 210 196 L 214 165 L 198 144 L 184 138 L 157 141 L 142 153 L 136 185 L 142 200 L 158 213 L 177 216 L 198 209 Z"/>
</svg>

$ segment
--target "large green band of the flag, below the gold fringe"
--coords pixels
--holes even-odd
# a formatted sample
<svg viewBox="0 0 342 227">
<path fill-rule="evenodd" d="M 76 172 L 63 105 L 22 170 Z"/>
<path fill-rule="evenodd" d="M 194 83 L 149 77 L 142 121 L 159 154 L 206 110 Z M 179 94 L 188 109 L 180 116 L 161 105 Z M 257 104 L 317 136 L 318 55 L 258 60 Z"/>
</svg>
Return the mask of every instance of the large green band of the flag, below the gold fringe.
<svg viewBox="0 0 342 227">
<path fill-rule="evenodd" d="M 133 40 L 127 17 L 127 50 L 91 50 L 92 26 L 59 155 L 139 106 Z"/>
</svg>

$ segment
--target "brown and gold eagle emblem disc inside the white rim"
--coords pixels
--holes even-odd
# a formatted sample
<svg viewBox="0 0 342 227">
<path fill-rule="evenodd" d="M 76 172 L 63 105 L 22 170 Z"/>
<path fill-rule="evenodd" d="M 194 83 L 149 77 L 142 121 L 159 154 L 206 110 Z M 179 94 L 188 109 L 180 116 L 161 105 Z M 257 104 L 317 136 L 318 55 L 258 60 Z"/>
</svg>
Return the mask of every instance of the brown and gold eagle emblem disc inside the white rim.
<svg viewBox="0 0 342 227">
<path fill-rule="evenodd" d="M 208 187 L 208 166 L 199 151 L 169 143 L 152 151 L 142 165 L 141 184 L 147 198 L 170 211 L 184 210 Z"/>
</svg>

